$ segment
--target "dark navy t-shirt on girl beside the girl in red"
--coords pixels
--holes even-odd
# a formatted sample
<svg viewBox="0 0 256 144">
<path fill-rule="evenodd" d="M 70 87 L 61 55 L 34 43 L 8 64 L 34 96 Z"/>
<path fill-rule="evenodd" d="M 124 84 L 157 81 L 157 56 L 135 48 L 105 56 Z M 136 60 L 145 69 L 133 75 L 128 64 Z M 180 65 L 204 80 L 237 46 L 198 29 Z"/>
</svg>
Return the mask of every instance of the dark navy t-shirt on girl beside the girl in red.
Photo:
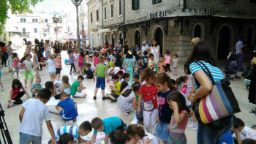
<svg viewBox="0 0 256 144">
<path fill-rule="evenodd" d="M 173 110 L 170 109 L 168 103 L 167 103 L 167 96 L 170 94 L 172 91 L 169 90 L 166 93 L 162 93 L 162 91 L 159 91 L 157 95 L 159 96 L 159 121 L 165 124 L 170 123 L 171 116 L 173 114 Z"/>
</svg>

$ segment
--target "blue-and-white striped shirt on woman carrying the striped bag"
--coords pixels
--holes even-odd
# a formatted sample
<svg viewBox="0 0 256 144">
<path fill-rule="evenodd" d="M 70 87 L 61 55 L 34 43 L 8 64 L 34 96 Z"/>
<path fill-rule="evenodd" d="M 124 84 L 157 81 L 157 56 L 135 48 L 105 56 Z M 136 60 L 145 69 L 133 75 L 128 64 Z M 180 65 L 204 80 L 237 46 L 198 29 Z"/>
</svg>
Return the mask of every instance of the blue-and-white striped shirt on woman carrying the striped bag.
<svg viewBox="0 0 256 144">
<path fill-rule="evenodd" d="M 205 62 L 205 61 L 201 61 L 201 62 L 203 62 L 203 64 L 205 64 L 206 67 L 210 70 L 211 75 L 212 75 L 212 77 L 214 77 L 215 81 L 216 80 L 222 80 L 224 78 L 224 75 L 223 75 L 222 71 L 218 67 L 214 67 L 214 66 L 212 66 L 211 64 L 209 64 L 208 62 Z M 200 64 L 200 65 L 203 67 L 202 64 Z M 206 70 L 205 67 L 203 67 L 203 69 Z M 198 66 L 198 64 L 196 64 L 195 62 L 193 62 L 192 64 L 189 65 L 189 70 L 192 73 L 194 78 L 195 78 L 194 73 L 197 72 L 198 70 L 203 70 L 203 69 L 200 66 Z M 206 72 L 207 72 L 207 70 L 206 70 Z M 194 86 L 195 86 L 195 89 L 198 88 L 197 83 L 194 83 Z"/>
</svg>

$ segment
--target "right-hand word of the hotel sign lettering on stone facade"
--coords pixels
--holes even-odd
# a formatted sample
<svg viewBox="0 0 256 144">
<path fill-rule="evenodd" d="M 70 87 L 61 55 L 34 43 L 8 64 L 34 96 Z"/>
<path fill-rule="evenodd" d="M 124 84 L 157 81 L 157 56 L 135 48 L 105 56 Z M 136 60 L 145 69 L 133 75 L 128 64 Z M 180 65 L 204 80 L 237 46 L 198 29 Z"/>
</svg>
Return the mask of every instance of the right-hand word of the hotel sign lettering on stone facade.
<svg viewBox="0 0 256 144">
<path fill-rule="evenodd" d="M 214 10 L 210 10 L 210 9 L 185 9 L 185 10 L 177 10 L 177 15 L 180 15 L 180 16 L 214 15 Z"/>
</svg>

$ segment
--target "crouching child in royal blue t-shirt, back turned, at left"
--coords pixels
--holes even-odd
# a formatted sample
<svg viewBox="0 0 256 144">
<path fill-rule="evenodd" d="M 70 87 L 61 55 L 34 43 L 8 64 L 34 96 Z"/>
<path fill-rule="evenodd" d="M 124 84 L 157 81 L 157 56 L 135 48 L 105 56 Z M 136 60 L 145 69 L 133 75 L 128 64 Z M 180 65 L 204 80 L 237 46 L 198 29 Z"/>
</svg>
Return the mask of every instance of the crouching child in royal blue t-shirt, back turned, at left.
<svg viewBox="0 0 256 144">
<path fill-rule="evenodd" d="M 59 115 L 61 115 L 61 122 L 66 121 L 75 121 L 78 116 L 78 105 L 73 99 L 66 93 L 60 94 L 61 101 L 58 105 L 56 105 L 56 109 L 59 111 Z"/>
</svg>

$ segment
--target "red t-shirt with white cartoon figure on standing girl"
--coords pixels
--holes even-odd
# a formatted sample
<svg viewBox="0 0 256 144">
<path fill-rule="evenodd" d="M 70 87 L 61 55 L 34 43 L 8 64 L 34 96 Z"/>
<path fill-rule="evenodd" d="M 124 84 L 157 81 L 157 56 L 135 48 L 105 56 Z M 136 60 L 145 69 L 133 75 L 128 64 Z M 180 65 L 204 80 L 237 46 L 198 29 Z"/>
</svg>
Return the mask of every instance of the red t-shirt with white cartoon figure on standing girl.
<svg viewBox="0 0 256 144">
<path fill-rule="evenodd" d="M 152 111 L 154 109 L 158 109 L 157 104 L 157 86 L 152 84 L 152 86 L 148 87 L 146 85 L 140 86 L 139 90 L 140 94 L 143 95 L 144 106 L 143 110 Z"/>
</svg>

